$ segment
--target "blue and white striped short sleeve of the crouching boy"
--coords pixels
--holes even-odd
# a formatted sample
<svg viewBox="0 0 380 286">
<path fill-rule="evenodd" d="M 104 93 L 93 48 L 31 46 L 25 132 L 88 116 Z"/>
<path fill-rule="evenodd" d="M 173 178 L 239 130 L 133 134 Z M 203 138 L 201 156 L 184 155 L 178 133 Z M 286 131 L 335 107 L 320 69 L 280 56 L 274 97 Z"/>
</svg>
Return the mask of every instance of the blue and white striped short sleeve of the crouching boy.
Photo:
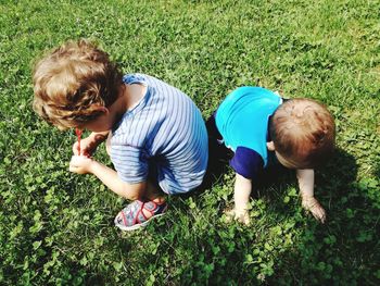
<svg viewBox="0 0 380 286">
<path fill-rule="evenodd" d="M 149 158 L 142 148 L 129 145 L 113 145 L 111 147 L 111 160 L 123 182 L 137 184 L 147 181 Z"/>
</svg>

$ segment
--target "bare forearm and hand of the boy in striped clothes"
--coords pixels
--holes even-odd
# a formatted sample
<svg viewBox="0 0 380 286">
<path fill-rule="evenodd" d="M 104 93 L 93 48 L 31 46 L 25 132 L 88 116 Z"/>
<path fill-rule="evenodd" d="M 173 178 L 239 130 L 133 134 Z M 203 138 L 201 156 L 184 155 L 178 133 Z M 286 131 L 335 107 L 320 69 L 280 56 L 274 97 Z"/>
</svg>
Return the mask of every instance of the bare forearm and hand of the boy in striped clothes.
<svg viewBox="0 0 380 286">
<path fill-rule="evenodd" d="M 91 173 L 115 194 L 128 199 L 137 200 L 145 191 L 147 183 L 128 184 L 123 182 L 116 171 L 86 157 L 73 157 L 69 171 L 77 174 Z"/>
</svg>

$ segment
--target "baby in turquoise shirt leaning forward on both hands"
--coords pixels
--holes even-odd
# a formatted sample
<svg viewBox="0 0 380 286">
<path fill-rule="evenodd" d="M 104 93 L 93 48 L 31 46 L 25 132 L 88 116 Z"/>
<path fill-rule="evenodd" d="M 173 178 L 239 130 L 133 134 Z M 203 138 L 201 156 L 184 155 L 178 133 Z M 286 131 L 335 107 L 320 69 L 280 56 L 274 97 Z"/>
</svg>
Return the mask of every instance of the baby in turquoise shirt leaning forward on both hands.
<svg viewBox="0 0 380 286">
<path fill-rule="evenodd" d="M 235 152 L 230 160 L 237 173 L 235 208 L 229 217 L 249 224 L 248 203 L 257 173 L 278 161 L 296 170 L 303 208 L 325 222 L 325 210 L 314 197 L 314 167 L 333 150 L 334 123 L 324 105 L 311 99 L 286 100 L 261 87 L 241 87 L 221 102 L 207 128 L 211 144 L 224 142 Z"/>
</svg>

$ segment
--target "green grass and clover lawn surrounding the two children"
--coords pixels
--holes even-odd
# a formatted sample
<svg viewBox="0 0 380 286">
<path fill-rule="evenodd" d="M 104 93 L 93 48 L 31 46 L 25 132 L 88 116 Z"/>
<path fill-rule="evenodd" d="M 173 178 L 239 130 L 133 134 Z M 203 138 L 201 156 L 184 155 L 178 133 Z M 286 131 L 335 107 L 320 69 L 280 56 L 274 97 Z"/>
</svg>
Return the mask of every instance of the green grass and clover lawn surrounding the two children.
<svg viewBox="0 0 380 286">
<path fill-rule="evenodd" d="M 0 1 L 0 285 L 379 285 L 379 18 L 376 0 Z M 227 166 L 147 228 L 118 231 L 126 201 L 69 173 L 74 132 L 31 110 L 35 59 L 80 37 L 205 119 L 242 85 L 325 102 L 338 132 L 316 175 L 328 222 L 304 213 L 286 173 L 258 186 L 251 226 L 226 224 Z"/>
</svg>

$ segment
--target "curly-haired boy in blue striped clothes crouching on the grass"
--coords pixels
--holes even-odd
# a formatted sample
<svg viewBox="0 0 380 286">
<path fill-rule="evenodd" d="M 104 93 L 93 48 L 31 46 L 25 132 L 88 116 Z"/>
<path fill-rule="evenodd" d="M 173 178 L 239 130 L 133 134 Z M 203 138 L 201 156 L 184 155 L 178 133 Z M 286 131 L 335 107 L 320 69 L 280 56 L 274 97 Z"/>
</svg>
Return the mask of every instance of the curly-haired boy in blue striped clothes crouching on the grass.
<svg viewBox="0 0 380 286">
<path fill-rule="evenodd" d="M 166 210 L 167 195 L 190 191 L 207 165 L 207 133 L 201 112 L 180 90 L 154 77 L 122 76 L 94 45 L 68 41 L 34 71 L 34 109 L 60 129 L 92 133 L 74 144 L 69 171 L 91 173 L 132 200 L 115 217 L 132 231 Z M 91 158 L 107 138 L 112 170 Z"/>
</svg>

